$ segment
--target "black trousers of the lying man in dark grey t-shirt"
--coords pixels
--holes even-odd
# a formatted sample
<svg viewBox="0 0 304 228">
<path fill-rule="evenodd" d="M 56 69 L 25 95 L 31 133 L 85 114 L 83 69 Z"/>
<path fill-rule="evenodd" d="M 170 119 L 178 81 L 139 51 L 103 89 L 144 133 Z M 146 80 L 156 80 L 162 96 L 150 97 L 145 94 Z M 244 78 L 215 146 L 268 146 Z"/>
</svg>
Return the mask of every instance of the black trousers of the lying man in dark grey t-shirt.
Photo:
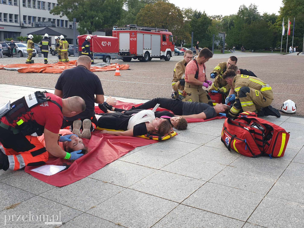
<svg viewBox="0 0 304 228">
<path fill-rule="evenodd" d="M 174 115 L 181 116 L 183 115 L 183 102 L 178 99 L 172 98 L 154 98 L 138 107 L 133 108 L 136 109 L 152 109 L 156 104 L 160 104 L 160 108 L 171 110 Z"/>
</svg>

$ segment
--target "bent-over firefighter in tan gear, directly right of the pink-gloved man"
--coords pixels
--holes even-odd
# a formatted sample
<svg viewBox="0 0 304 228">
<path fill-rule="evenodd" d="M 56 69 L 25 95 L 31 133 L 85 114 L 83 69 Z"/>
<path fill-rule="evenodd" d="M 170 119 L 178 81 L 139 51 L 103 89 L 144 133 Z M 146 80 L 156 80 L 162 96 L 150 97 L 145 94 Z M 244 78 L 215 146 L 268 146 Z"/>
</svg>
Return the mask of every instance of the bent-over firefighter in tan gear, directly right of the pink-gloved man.
<svg viewBox="0 0 304 228">
<path fill-rule="evenodd" d="M 227 62 L 221 62 L 213 69 L 213 71 L 210 73 L 210 78 L 215 78 L 215 80 L 209 88 L 209 91 L 216 90 L 228 94 L 231 86 L 227 85 L 226 81 L 223 80 L 223 74 L 230 64 L 236 65 L 237 57 L 230 56 Z"/>
</svg>

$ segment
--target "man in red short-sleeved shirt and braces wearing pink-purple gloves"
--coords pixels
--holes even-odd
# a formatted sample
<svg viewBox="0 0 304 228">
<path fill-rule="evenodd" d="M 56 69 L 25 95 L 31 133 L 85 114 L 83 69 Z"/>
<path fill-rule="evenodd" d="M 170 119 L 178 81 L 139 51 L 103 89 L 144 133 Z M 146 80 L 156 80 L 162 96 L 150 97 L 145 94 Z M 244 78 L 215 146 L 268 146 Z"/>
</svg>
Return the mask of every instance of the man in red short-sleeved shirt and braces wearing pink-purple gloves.
<svg viewBox="0 0 304 228">
<path fill-rule="evenodd" d="M 212 81 L 206 80 L 205 63 L 212 58 L 213 54 L 208 48 L 203 48 L 199 56 L 191 60 L 185 71 L 185 92 L 187 101 L 203 102 L 212 105 L 212 100 L 208 93 L 203 90 L 203 86 L 208 88 Z"/>
</svg>

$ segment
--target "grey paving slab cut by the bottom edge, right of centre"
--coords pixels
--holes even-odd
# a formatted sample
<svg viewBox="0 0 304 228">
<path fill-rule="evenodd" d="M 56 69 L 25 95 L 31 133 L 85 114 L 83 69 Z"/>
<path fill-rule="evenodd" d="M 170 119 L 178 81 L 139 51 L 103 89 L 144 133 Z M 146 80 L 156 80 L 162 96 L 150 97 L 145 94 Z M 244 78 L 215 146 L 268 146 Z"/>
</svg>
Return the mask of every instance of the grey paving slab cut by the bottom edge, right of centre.
<svg viewBox="0 0 304 228">
<path fill-rule="evenodd" d="M 225 216 L 213 214 L 197 208 L 179 205 L 153 228 L 237 228 L 242 227 L 244 222 Z"/>
</svg>

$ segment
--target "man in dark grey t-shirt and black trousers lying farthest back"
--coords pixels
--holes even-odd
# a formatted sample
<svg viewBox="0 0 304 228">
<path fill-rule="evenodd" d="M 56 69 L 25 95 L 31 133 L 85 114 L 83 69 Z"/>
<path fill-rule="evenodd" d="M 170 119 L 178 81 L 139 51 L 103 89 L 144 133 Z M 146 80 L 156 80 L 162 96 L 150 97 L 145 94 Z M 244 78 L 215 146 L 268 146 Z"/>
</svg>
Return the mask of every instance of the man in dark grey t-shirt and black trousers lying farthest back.
<svg viewBox="0 0 304 228">
<path fill-rule="evenodd" d="M 227 113 L 230 110 L 230 106 L 225 104 L 216 104 L 215 106 L 208 105 L 200 102 L 182 102 L 178 99 L 171 98 L 154 98 L 140 106 L 132 107 L 129 111 L 137 109 L 152 109 L 155 105 L 160 104 L 160 108 L 168 109 L 173 112 L 175 116 L 181 116 L 183 118 L 195 118 L 195 119 L 211 119 L 216 117 L 219 113 Z M 109 107 L 111 111 L 119 111 L 120 109 Z M 103 110 L 102 110 L 103 111 Z"/>
</svg>

